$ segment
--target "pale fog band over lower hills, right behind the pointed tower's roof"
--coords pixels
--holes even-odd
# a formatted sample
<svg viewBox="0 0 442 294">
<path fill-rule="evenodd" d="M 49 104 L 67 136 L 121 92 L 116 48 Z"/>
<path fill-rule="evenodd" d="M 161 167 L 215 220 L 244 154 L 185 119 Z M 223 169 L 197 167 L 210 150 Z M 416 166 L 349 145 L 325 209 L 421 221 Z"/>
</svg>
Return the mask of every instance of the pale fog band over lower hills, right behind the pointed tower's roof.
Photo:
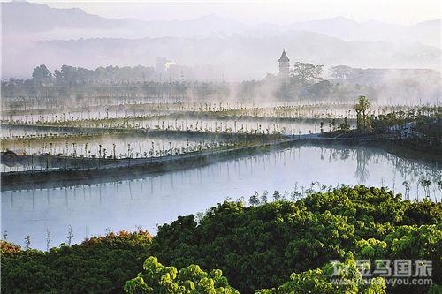
<svg viewBox="0 0 442 294">
<path fill-rule="evenodd" d="M 263 79 L 278 72 L 285 48 L 291 61 L 345 64 L 362 68 L 430 68 L 439 70 L 440 49 L 387 42 L 341 41 L 320 34 L 292 31 L 273 37 L 80 39 L 3 44 L 3 77 L 28 77 L 38 64 L 50 69 L 62 64 L 96 68 L 118 65 L 154 66 L 156 57 L 168 57 L 193 69 L 211 68 L 184 79 Z M 198 70 L 194 71 L 198 72 Z M 168 77 L 165 77 L 166 79 Z"/>
</svg>

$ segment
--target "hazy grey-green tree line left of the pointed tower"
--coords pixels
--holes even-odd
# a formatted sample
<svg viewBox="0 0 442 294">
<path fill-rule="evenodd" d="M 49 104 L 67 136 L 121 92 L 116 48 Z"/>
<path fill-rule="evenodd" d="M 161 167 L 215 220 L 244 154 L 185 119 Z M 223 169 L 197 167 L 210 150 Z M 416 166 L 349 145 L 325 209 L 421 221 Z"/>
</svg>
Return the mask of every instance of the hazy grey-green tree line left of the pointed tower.
<svg viewBox="0 0 442 294">
<path fill-rule="evenodd" d="M 228 96 L 225 83 L 181 80 L 156 81 L 153 67 L 98 67 L 88 70 L 63 65 L 50 72 L 42 64 L 34 68 L 31 79 L 4 79 L 2 98 L 13 108 L 25 107 L 28 102 L 48 105 L 79 103 L 90 99 L 164 99 L 173 102 L 185 98 L 213 98 Z"/>
</svg>

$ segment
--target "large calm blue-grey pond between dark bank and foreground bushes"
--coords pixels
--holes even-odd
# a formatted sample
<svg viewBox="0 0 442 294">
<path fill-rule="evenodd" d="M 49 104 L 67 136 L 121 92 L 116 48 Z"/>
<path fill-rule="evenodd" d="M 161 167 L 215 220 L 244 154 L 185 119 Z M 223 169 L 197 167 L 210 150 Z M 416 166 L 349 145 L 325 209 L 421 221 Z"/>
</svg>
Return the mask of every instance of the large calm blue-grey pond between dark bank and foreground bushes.
<svg viewBox="0 0 442 294">
<path fill-rule="evenodd" d="M 2 232 L 7 239 L 45 249 L 50 231 L 51 246 L 66 242 L 72 226 L 73 241 L 103 235 L 107 230 L 136 230 L 141 226 L 156 233 L 156 224 L 172 222 L 178 215 L 204 212 L 230 198 L 248 198 L 256 191 L 275 190 L 284 194 L 309 188 L 312 182 L 389 186 L 410 198 L 423 199 L 421 178 L 431 180 L 427 189 L 431 200 L 440 200 L 437 181 L 442 170 L 424 162 L 414 162 L 381 149 L 309 145 L 272 151 L 190 170 L 179 170 L 120 183 L 82 185 L 48 190 L 2 193 Z M 290 199 L 290 196 L 288 196 Z"/>
</svg>

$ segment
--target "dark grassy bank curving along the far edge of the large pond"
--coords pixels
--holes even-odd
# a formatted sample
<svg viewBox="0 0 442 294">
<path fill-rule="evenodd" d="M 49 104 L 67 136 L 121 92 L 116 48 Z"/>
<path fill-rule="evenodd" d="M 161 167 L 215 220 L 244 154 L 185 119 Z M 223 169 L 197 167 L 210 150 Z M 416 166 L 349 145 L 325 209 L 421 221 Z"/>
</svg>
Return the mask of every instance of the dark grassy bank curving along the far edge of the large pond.
<svg viewBox="0 0 442 294">
<path fill-rule="evenodd" d="M 275 141 L 249 147 L 234 147 L 223 150 L 206 150 L 187 155 L 168 155 L 158 158 L 121 159 L 115 166 L 94 169 L 71 170 L 27 170 L 1 173 L 1 191 L 57 188 L 70 185 L 91 185 L 157 175 L 173 170 L 187 170 L 203 167 L 215 162 L 240 158 L 248 155 L 261 155 L 273 150 L 296 146 L 365 146 L 384 150 L 392 155 L 417 162 L 442 165 L 438 155 L 395 145 L 391 140 L 380 139 L 335 139 L 304 135 L 304 138 Z M 302 137 L 302 136 L 301 136 Z M 106 160 L 104 160 L 106 161 Z M 115 160 L 110 160 L 115 161 Z M 131 164 L 132 162 L 132 164 Z"/>
</svg>

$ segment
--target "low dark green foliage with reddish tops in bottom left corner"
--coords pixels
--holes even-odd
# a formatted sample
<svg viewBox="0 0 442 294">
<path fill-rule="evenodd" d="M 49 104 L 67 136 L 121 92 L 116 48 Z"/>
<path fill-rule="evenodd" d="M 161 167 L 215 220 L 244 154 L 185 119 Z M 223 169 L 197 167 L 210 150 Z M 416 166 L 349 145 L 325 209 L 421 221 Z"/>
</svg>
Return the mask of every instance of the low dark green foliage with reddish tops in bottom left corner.
<svg viewBox="0 0 442 294">
<path fill-rule="evenodd" d="M 144 231 L 92 237 L 49 253 L 2 242 L 2 292 L 120 293 L 141 270 L 151 242 Z"/>
</svg>

